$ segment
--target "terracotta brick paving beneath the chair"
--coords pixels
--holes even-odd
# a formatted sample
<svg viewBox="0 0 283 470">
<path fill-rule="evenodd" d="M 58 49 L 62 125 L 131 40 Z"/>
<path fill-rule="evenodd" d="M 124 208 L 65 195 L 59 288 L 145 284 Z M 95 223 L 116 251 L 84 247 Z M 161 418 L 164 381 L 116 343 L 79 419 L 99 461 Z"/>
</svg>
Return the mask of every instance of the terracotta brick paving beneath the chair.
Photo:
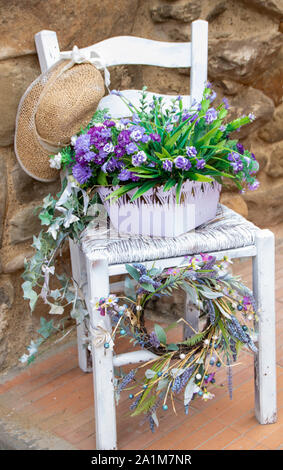
<svg viewBox="0 0 283 470">
<path fill-rule="evenodd" d="M 251 261 L 233 266 L 235 274 L 251 285 Z M 117 407 L 120 449 L 283 449 L 283 249 L 277 252 L 277 380 L 278 421 L 260 425 L 254 417 L 253 357 L 242 352 L 234 367 L 234 392 L 227 395 L 225 371 L 217 374 L 215 399 L 194 400 L 189 415 L 183 413 L 182 400 L 172 410 L 160 412 L 160 426 L 152 433 L 140 417 L 129 416 L 128 393 Z M 125 349 L 125 343 L 121 344 Z M 21 369 L 0 385 L 0 418 L 21 429 L 33 429 L 57 437 L 73 449 L 95 449 L 92 375 L 77 366 L 76 346 Z M 68 447 L 69 445 L 69 447 Z M 58 444 L 59 446 L 59 444 Z M 57 446 L 57 448 L 58 448 Z"/>
</svg>

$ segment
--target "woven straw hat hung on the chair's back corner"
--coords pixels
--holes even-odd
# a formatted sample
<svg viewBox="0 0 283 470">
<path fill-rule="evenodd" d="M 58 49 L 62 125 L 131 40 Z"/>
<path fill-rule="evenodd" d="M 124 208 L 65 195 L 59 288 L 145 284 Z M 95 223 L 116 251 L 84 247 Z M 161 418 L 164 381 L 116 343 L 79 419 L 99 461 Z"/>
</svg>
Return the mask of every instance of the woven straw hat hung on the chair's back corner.
<svg viewBox="0 0 283 470">
<path fill-rule="evenodd" d="M 103 95 L 103 78 L 88 61 L 61 60 L 29 86 L 15 132 L 15 153 L 29 176 L 43 182 L 56 179 L 58 170 L 50 167 L 49 155 L 89 123 Z"/>
</svg>

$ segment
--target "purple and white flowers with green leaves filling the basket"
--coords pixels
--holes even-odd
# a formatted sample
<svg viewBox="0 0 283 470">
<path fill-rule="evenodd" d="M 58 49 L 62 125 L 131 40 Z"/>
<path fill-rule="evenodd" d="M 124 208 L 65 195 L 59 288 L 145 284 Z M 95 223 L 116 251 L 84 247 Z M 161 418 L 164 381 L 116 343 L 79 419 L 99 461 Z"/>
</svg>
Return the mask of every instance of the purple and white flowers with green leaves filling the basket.
<svg viewBox="0 0 283 470">
<path fill-rule="evenodd" d="M 224 98 L 213 107 L 216 93 L 210 84 L 201 102 L 192 103 L 190 109 L 184 109 L 180 97 L 169 107 L 161 97 L 149 102 L 146 88 L 138 108 L 121 92 L 112 93 L 129 107 L 132 118 L 114 120 L 106 110 L 98 111 L 90 125 L 73 136 L 70 146 L 51 157 L 53 168 L 68 169 L 84 189 L 119 185 L 109 197 L 135 190 L 134 201 L 162 185 L 165 192 L 176 187 L 179 200 L 187 180 L 222 183 L 230 178 L 240 190 L 245 185 L 251 190 L 258 187 L 254 154 L 230 139 L 254 116 L 226 122 L 228 101 Z"/>
</svg>

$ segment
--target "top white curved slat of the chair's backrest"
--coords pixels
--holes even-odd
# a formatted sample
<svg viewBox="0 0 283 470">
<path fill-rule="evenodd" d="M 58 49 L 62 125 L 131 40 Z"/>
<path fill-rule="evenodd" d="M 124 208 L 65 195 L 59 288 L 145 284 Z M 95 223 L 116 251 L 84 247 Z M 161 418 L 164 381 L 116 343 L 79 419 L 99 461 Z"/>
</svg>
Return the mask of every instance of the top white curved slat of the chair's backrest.
<svg viewBox="0 0 283 470">
<path fill-rule="evenodd" d="M 82 48 L 81 51 L 87 57 L 90 57 L 92 51 L 97 52 L 107 67 L 125 64 L 172 68 L 191 66 L 190 42 L 174 43 L 133 36 L 117 36 Z M 64 52 L 61 52 L 61 57 L 64 58 Z"/>
</svg>

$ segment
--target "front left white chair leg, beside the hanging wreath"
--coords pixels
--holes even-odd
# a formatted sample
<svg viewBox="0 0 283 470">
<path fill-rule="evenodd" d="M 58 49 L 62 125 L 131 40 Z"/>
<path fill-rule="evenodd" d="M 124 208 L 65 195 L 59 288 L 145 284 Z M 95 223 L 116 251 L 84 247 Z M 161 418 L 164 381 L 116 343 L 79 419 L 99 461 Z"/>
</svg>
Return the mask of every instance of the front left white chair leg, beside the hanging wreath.
<svg viewBox="0 0 283 470">
<path fill-rule="evenodd" d="M 92 261 L 87 258 L 88 309 L 92 328 L 98 325 L 111 332 L 110 319 L 101 316 L 95 310 L 95 303 L 100 297 L 109 295 L 108 264 L 105 260 Z M 105 349 L 102 344 L 92 344 L 93 387 L 96 422 L 97 450 L 117 448 L 116 409 L 114 397 L 114 372 L 112 349 Z"/>
</svg>

